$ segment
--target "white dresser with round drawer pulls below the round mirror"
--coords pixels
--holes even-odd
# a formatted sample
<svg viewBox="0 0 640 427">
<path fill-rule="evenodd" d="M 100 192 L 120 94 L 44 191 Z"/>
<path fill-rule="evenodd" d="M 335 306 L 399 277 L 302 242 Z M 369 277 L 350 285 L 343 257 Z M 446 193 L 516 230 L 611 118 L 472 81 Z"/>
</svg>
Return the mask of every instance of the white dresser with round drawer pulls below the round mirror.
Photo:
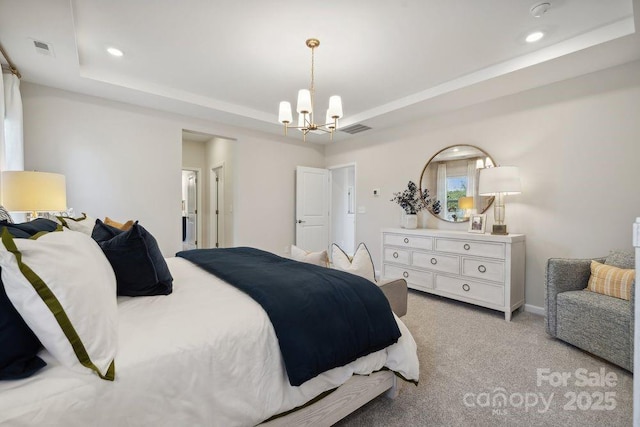
<svg viewBox="0 0 640 427">
<path fill-rule="evenodd" d="M 411 289 L 499 310 L 524 304 L 525 236 L 404 228 L 382 230 L 382 276 Z"/>
</svg>

